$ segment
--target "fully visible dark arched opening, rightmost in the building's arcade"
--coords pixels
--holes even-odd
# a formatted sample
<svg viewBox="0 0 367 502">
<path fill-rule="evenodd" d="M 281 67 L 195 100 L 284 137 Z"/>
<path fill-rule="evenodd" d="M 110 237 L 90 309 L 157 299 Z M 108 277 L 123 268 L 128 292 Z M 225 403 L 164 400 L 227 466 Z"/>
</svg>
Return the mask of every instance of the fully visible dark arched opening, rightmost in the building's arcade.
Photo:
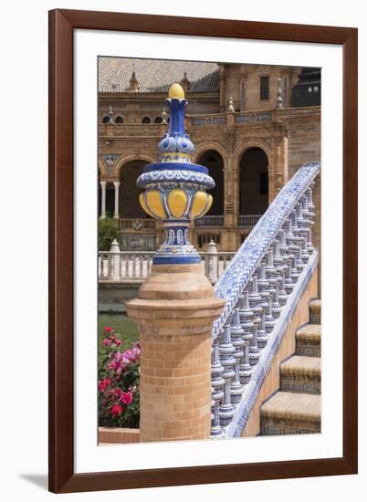
<svg viewBox="0 0 367 502">
<path fill-rule="evenodd" d="M 249 148 L 239 162 L 239 214 L 264 214 L 268 206 L 268 161 L 261 148 Z"/>
</svg>

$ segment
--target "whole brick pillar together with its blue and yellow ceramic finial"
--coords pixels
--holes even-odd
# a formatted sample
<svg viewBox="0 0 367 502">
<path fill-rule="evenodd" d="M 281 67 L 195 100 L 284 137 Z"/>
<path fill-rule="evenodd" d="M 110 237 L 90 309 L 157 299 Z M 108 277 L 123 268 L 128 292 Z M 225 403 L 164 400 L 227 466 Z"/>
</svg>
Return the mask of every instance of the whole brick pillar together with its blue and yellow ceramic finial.
<svg viewBox="0 0 367 502">
<path fill-rule="evenodd" d="M 166 101 L 170 123 L 159 143 L 160 162 L 145 166 L 137 181 L 145 189 L 142 208 L 163 221 L 165 241 L 153 257 L 152 275 L 127 304 L 141 335 L 142 442 L 210 437 L 212 404 L 214 427 L 218 420 L 211 399 L 211 333 L 224 300 L 215 298 L 187 240 L 191 221 L 212 203 L 206 189 L 214 181 L 204 166 L 191 162 L 184 89 L 173 84 Z"/>
</svg>

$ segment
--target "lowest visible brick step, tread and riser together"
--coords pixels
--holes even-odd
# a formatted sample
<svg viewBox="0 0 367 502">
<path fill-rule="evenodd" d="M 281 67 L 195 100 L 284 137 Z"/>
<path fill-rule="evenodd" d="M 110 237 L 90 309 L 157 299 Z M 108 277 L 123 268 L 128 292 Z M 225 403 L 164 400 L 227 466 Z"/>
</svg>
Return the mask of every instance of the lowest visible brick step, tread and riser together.
<svg viewBox="0 0 367 502">
<path fill-rule="evenodd" d="M 261 435 L 315 434 L 321 431 L 321 396 L 277 392 L 261 407 Z"/>
</svg>

